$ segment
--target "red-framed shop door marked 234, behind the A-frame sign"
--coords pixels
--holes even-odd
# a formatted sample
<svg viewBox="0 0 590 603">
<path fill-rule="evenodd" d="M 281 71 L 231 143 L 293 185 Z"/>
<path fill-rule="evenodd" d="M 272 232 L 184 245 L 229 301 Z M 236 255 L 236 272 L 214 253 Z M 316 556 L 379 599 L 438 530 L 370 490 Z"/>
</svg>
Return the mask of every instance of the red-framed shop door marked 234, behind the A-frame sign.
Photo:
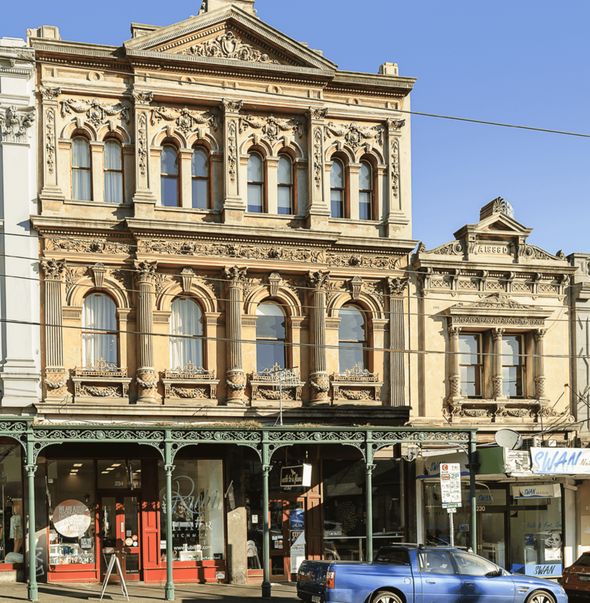
<svg viewBox="0 0 590 603">
<path fill-rule="evenodd" d="M 101 581 L 107 571 L 102 551 L 115 549 L 125 581 L 141 579 L 140 497 L 137 492 L 103 493 L 99 505 Z M 107 557 L 108 559 L 108 557 Z M 118 581 L 112 576 L 109 581 Z"/>
</svg>

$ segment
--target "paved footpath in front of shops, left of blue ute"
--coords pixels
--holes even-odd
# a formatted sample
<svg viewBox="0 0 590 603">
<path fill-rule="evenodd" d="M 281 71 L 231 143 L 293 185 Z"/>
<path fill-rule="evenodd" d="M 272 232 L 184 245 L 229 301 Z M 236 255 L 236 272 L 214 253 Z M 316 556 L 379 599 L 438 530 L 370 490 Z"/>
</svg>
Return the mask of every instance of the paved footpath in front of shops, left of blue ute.
<svg viewBox="0 0 590 603">
<path fill-rule="evenodd" d="M 156 603 L 164 601 L 163 584 L 143 584 L 128 582 L 130 603 Z M 41 603 L 73 603 L 74 601 L 98 601 L 100 584 L 39 584 Z M 272 586 L 273 603 L 295 603 L 297 589 L 294 582 L 275 583 Z M 27 601 L 26 584 L 0 584 L 0 603 Z M 121 586 L 113 583 L 107 586 L 102 601 L 127 601 Z M 177 603 L 216 601 L 219 603 L 268 603 L 260 593 L 260 584 L 239 586 L 233 584 L 175 584 Z"/>
</svg>

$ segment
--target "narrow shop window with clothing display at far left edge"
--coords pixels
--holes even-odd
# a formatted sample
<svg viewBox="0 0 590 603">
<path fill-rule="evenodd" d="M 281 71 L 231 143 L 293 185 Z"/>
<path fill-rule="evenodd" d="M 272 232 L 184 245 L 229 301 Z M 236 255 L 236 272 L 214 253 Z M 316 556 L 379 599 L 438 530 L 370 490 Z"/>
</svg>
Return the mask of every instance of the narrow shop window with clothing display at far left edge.
<svg viewBox="0 0 590 603">
<path fill-rule="evenodd" d="M 20 449 L 20 444 L 0 444 L 2 492 L 0 561 L 2 563 L 23 563 L 25 524 Z"/>
</svg>

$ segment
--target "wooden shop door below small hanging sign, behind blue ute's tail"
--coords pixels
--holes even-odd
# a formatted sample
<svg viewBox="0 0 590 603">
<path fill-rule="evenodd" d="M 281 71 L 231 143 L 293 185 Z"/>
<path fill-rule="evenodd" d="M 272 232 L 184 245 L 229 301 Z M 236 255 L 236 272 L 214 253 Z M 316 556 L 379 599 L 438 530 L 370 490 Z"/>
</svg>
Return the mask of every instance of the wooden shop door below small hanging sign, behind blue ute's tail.
<svg viewBox="0 0 590 603">
<path fill-rule="evenodd" d="M 296 580 L 299 563 L 306 558 L 305 499 L 270 500 L 271 580 Z"/>
</svg>

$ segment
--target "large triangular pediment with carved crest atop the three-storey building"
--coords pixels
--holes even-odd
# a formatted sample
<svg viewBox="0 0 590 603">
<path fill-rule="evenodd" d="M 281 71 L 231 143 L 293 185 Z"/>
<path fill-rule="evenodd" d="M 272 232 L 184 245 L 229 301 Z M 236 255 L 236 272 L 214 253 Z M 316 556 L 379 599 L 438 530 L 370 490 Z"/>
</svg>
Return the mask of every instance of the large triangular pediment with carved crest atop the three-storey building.
<svg viewBox="0 0 590 603">
<path fill-rule="evenodd" d="M 160 27 L 124 43 L 128 55 L 242 65 L 248 68 L 319 69 L 337 65 L 235 5 Z"/>
</svg>

